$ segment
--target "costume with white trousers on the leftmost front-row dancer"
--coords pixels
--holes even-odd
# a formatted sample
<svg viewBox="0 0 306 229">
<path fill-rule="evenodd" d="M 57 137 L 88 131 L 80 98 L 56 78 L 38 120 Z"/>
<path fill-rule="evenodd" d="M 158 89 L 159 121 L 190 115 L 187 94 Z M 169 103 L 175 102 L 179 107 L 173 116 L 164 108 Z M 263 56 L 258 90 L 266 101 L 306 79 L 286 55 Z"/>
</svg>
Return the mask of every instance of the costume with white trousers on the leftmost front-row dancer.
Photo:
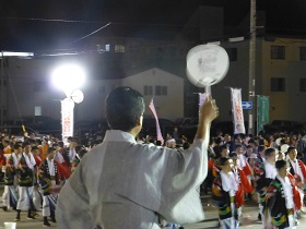
<svg viewBox="0 0 306 229">
<path fill-rule="evenodd" d="M 19 193 L 16 190 L 16 168 L 20 156 L 12 153 L 8 158 L 8 164 L 4 173 L 4 192 L 2 194 L 3 206 L 9 208 L 16 208 Z"/>
</svg>

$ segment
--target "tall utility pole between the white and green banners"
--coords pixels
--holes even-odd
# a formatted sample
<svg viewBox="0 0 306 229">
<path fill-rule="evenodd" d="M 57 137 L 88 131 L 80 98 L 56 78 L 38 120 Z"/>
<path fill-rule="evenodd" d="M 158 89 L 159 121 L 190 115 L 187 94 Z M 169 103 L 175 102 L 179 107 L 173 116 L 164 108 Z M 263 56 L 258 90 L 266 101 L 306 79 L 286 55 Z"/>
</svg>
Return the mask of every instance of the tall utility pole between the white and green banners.
<svg viewBox="0 0 306 229">
<path fill-rule="evenodd" d="M 255 134 L 254 121 L 257 119 L 255 106 L 256 85 L 256 0 L 250 0 L 250 40 L 249 40 L 249 86 L 248 100 L 252 104 L 252 109 L 248 111 L 248 134 Z"/>
</svg>

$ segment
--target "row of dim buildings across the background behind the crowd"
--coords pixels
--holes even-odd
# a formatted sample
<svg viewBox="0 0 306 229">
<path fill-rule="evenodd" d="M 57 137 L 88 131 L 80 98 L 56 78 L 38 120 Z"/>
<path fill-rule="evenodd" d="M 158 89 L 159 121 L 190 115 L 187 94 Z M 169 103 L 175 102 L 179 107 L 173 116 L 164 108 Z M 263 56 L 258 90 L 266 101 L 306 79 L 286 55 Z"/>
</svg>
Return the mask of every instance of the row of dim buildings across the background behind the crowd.
<svg viewBox="0 0 306 229">
<path fill-rule="evenodd" d="M 222 25 L 221 9 L 202 7 L 170 39 L 126 37 L 115 34 L 93 37 L 86 47 L 89 50 L 94 49 L 94 52 L 69 57 L 70 60 L 76 60 L 85 65 L 90 75 L 87 85 L 81 88 L 85 99 L 75 106 L 75 119 L 103 119 L 105 96 L 111 88 L 121 85 L 139 89 L 144 94 L 146 104 L 153 97 L 161 118 L 175 120 L 181 117 L 197 117 L 197 93 L 203 92 L 203 88 L 196 88 L 188 82 L 186 55 L 197 45 L 219 41 L 227 51 L 231 63 L 225 79 L 213 85 L 211 91 L 221 110 L 219 120 L 232 120 L 229 87 L 242 88 L 243 100 L 248 99 L 247 17 L 249 15 L 236 27 L 235 33 L 228 32 L 228 28 Z M 258 13 L 258 19 L 259 24 L 264 25 L 264 14 Z M 232 41 L 229 38 L 233 34 L 242 36 L 243 39 Z M 263 29 L 259 29 L 257 35 L 256 95 L 269 96 L 271 121 L 286 119 L 304 122 L 306 108 L 301 105 L 305 104 L 306 93 L 306 39 L 269 35 Z M 51 86 L 50 72 L 63 60 L 67 58 L 48 56 L 34 59 L 5 59 L 3 69 L 8 74 L 3 79 L 5 96 L 2 98 L 4 120 L 39 113 L 60 118 L 59 101 L 64 94 Z"/>
</svg>

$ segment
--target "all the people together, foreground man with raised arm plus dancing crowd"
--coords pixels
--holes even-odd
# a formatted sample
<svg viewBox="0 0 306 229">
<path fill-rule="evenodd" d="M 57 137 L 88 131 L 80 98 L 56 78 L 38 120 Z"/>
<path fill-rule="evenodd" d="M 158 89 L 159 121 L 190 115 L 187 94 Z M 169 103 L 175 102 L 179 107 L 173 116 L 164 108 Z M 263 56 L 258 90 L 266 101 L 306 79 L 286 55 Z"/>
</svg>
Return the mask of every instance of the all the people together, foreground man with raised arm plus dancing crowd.
<svg viewBox="0 0 306 229">
<path fill-rule="evenodd" d="M 198 189 L 204 180 L 202 192 L 211 192 L 219 206 L 222 229 L 239 227 L 246 200 L 258 202 L 264 229 L 298 225 L 305 213 L 305 132 L 220 133 L 209 143 L 219 109 L 207 98 L 193 140 L 175 129 L 161 142 L 140 136 L 143 112 L 141 94 L 119 87 L 106 99 L 110 130 L 101 142 L 80 145 L 68 137 L 64 144 L 49 136 L 20 142 L 3 133 L 3 210 L 15 209 L 16 221 L 22 210 L 27 219 L 42 212 L 45 227 L 58 220 L 64 229 L 160 228 L 172 222 L 183 228 L 204 218 Z"/>
</svg>

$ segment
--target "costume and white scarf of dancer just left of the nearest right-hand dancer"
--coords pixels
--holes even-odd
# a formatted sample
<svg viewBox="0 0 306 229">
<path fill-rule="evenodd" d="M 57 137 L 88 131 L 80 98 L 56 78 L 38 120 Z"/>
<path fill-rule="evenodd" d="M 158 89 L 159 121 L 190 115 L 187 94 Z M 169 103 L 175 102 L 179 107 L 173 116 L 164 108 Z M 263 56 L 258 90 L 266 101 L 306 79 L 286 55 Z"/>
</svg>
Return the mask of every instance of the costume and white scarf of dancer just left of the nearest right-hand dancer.
<svg viewBox="0 0 306 229">
<path fill-rule="evenodd" d="M 274 165 L 269 164 L 267 160 L 260 162 L 259 160 L 255 164 L 254 167 L 254 178 L 256 182 L 256 191 L 258 193 L 258 205 L 259 213 L 261 215 L 262 226 L 267 227 L 267 224 L 270 221 L 270 215 L 266 214 L 266 194 L 267 191 L 263 188 L 268 188 L 270 183 L 275 179 L 278 170 Z"/>
</svg>

